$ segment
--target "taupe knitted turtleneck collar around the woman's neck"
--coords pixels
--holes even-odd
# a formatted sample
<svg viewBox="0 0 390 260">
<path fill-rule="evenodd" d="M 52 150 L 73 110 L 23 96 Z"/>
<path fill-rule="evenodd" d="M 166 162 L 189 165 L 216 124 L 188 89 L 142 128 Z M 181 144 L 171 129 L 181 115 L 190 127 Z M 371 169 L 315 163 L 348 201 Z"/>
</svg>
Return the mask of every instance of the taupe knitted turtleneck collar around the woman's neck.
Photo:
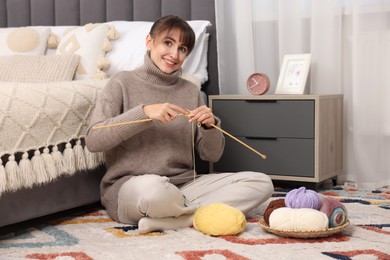
<svg viewBox="0 0 390 260">
<path fill-rule="evenodd" d="M 136 69 L 136 74 L 152 84 L 169 86 L 176 83 L 177 79 L 181 76 L 182 71 L 181 69 L 178 69 L 172 74 L 166 74 L 153 63 L 149 54 L 146 53 L 144 64 Z"/>
</svg>

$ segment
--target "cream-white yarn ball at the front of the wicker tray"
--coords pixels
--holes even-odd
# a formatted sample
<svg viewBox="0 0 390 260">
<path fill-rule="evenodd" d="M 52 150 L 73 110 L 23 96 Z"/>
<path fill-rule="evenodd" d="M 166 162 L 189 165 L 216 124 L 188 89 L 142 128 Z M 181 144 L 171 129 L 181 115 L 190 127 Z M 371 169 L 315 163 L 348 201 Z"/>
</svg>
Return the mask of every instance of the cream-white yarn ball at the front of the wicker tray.
<svg viewBox="0 0 390 260">
<path fill-rule="evenodd" d="M 327 230 L 328 222 L 324 212 L 309 208 L 278 208 L 269 218 L 269 226 L 273 229 L 301 232 Z"/>
</svg>

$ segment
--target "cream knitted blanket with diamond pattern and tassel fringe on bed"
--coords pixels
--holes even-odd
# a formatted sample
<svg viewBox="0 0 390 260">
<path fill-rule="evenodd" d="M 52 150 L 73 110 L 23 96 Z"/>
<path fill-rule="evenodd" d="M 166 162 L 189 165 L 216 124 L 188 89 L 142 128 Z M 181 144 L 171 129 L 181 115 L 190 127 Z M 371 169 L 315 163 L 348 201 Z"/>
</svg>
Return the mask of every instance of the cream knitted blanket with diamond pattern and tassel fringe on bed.
<svg viewBox="0 0 390 260">
<path fill-rule="evenodd" d="M 0 194 L 103 163 L 83 138 L 106 82 L 0 82 Z"/>
</svg>

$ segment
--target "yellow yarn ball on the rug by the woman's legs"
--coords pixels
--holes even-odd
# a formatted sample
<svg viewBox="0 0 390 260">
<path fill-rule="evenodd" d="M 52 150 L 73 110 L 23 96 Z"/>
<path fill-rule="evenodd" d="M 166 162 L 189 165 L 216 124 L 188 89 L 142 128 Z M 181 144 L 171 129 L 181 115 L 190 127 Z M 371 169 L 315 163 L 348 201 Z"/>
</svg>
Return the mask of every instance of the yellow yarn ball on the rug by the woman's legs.
<svg viewBox="0 0 390 260">
<path fill-rule="evenodd" d="M 213 203 L 195 211 L 193 225 L 206 235 L 236 235 L 245 229 L 246 219 L 239 209 L 223 203 Z"/>
</svg>

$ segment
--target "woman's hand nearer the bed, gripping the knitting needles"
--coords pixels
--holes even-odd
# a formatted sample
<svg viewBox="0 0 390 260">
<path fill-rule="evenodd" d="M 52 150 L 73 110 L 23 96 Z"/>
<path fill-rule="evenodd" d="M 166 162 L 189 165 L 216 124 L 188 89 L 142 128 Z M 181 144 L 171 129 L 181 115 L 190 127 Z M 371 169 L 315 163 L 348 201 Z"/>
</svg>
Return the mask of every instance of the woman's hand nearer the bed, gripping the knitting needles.
<svg viewBox="0 0 390 260">
<path fill-rule="evenodd" d="M 174 120 L 179 114 L 188 114 L 188 111 L 182 107 L 164 103 L 146 105 L 144 106 L 144 113 L 151 119 L 165 123 Z"/>
</svg>

